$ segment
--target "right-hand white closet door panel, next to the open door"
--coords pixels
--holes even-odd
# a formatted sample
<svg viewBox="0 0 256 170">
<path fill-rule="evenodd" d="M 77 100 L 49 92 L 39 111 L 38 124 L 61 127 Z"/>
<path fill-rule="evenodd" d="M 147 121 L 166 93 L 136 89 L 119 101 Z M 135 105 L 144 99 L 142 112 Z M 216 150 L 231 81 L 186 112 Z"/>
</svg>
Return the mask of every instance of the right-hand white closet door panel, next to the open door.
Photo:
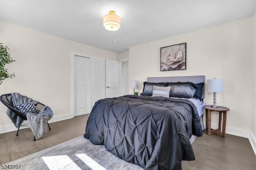
<svg viewBox="0 0 256 170">
<path fill-rule="evenodd" d="M 90 111 L 95 102 L 105 97 L 105 61 L 90 58 Z"/>
</svg>

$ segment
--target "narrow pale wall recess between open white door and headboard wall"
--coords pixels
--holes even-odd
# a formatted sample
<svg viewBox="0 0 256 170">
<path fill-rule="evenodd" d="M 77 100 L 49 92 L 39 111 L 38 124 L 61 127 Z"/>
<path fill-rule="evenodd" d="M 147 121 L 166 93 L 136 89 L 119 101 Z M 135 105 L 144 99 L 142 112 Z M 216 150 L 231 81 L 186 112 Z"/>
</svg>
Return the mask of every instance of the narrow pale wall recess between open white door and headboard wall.
<svg viewBox="0 0 256 170">
<path fill-rule="evenodd" d="M 128 59 L 128 61 L 126 61 Z M 129 94 L 129 51 L 118 53 L 118 60 L 122 61 L 122 65 L 125 65 L 125 94 Z"/>
</svg>

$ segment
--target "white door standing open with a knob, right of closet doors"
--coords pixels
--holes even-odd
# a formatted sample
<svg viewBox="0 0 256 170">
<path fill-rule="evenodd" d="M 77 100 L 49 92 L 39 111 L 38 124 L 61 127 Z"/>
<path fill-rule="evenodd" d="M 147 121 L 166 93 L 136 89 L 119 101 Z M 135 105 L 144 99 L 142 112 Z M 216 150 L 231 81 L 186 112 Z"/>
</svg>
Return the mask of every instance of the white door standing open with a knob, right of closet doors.
<svg viewBox="0 0 256 170">
<path fill-rule="evenodd" d="M 106 97 L 121 95 L 121 62 L 106 59 Z"/>
</svg>

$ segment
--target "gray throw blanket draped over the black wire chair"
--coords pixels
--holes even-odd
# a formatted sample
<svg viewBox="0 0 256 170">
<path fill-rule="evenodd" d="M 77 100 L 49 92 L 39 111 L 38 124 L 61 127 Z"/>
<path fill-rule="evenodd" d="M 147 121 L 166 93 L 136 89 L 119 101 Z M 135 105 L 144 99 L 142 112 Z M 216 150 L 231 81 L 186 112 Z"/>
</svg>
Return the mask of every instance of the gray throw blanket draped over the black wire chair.
<svg viewBox="0 0 256 170">
<path fill-rule="evenodd" d="M 33 102 L 35 105 L 38 101 L 32 100 L 32 98 L 28 98 L 26 96 L 21 95 L 20 93 L 10 93 L 12 95 L 12 102 L 15 105 L 20 105 L 28 102 Z M 16 128 L 19 127 L 20 122 L 22 123 L 23 120 L 18 117 L 15 113 L 13 113 L 10 109 L 6 111 L 8 117 L 12 120 L 12 123 L 15 125 Z M 52 109 L 48 106 L 42 111 L 42 113 L 27 113 L 26 114 L 28 123 L 31 127 L 32 132 L 35 135 L 35 138 L 41 138 L 47 132 L 47 121 L 52 119 L 53 112 Z"/>
</svg>

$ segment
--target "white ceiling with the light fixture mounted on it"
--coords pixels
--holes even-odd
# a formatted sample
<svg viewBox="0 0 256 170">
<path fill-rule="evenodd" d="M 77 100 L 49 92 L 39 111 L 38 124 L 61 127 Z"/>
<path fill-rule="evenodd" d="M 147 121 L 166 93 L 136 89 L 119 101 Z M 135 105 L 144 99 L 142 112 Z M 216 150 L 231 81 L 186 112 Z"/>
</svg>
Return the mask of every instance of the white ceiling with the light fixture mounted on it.
<svg viewBox="0 0 256 170">
<path fill-rule="evenodd" d="M 121 17 L 116 32 L 103 27 L 110 10 Z M 255 10 L 256 0 L 0 0 L 4 22 L 116 53 L 248 18 Z"/>
</svg>

